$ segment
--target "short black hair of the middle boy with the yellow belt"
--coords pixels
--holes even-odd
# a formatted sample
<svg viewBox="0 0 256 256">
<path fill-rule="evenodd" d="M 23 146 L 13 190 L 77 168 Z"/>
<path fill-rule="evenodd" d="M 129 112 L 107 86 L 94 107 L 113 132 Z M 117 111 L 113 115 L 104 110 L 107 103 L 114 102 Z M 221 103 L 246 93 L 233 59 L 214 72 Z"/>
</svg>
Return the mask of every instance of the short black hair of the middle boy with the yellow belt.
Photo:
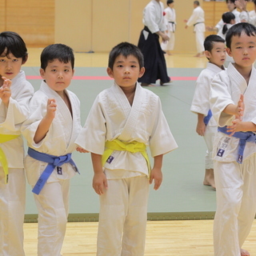
<svg viewBox="0 0 256 256">
<path fill-rule="evenodd" d="M 134 44 L 130 42 L 121 42 L 110 51 L 108 67 L 111 70 L 113 70 L 114 61 L 119 55 L 123 55 L 126 58 L 133 55 L 138 59 L 139 68 L 141 69 L 144 66 L 143 54 L 141 50 L 138 49 L 138 46 L 134 46 Z"/>
</svg>

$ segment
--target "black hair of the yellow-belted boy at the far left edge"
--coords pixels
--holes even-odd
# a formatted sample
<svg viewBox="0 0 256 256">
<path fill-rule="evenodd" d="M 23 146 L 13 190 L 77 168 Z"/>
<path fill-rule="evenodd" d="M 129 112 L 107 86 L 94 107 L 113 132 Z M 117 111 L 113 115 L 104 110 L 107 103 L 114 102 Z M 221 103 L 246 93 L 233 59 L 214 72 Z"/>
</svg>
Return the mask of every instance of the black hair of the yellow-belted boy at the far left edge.
<svg viewBox="0 0 256 256">
<path fill-rule="evenodd" d="M 13 54 L 15 58 L 22 58 L 22 63 L 26 62 L 27 50 L 26 43 L 16 32 L 4 31 L 0 33 L 0 55 L 9 58 Z M 3 55 L 2 55 L 3 56 Z"/>
</svg>

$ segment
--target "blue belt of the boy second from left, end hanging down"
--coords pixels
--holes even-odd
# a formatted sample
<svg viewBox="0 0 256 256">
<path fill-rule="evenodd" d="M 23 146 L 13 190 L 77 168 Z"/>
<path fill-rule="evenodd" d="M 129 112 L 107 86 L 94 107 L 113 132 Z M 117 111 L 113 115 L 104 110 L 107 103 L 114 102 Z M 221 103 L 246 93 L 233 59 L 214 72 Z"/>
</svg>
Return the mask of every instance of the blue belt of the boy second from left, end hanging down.
<svg viewBox="0 0 256 256">
<path fill-rule="evenodd" d="M 42 190 L 42 187 L 46 184 L 47 179 L 50 177 L 50 174 L 52 174 L 56 166 L 62 166 L 62 164 L 69 162 L 70 165 L 73 166 L 74 170 L 78 172 L 77 166 L 75 165 L 74 161 L 71 159 L 71 154 L 66 154 L 66 155 L 57 157 L 55 155 L 38 152 L 31 148 L 29 148 L 29 150 L 27 151 L 27 154 L 31 158 L 34 158 L 38 161 L 48 162 L 48 166 L 46 166 L 46 169 L 42 172 L 40 178 L 38 179 L 38 182 L 35 184 L 32 190 L 34 194 L 40 193 L 40 191 Z"/>
</svg>

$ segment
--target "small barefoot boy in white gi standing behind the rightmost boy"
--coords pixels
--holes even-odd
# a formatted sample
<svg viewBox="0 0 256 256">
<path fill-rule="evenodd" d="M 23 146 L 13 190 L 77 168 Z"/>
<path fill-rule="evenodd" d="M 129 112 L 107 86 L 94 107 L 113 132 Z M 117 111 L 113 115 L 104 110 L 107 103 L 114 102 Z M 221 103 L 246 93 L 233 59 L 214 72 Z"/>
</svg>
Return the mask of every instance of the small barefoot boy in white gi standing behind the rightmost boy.
<svg viewBox="0 0 256 256">
<path fill-rule="evenodd" d="M 204 47 L 206 58 L 208 58 L 209 62 L 206 64 L 206 69 L 202 70 L 198 76 L 190 110 L 198 114 L 196 131 L 198 135 L 203 136 L 207 146 L 205 158 L 206 171 L 203 184 L 215 188 L 214 161 L 212 154 L 217 124 L 214 118 L 212 118 L 210 111 L 209 95 L 210 83 L 214 75 L 224 70 L 223 64 L 226 60 L 225 40 L 216 34 L 210 34 L 205 39 Z"/>
</svg>

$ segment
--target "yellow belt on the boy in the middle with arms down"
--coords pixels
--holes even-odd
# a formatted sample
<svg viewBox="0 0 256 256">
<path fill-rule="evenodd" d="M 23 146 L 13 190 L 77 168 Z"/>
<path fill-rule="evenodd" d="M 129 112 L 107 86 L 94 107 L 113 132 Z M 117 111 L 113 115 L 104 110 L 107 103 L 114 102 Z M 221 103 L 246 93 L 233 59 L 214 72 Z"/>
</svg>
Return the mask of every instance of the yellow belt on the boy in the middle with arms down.
<svg viewBox="0 0 256 256">
<path fill-rule="evenodd" d="M 106 141 L 106 150 L 102 154 L 102 166 L 104 166 L 107 159 L 113 153 L 114 150 L 118 151 L 129 151 L 130 153 L 140 152 L 142 156 L 146 159 L 148 170 L 150 172 L 150 159 L 146 153 L 146 145 L 142 142 L 121 142 L 118 139 L 113 141 Z"/>
</svg>

